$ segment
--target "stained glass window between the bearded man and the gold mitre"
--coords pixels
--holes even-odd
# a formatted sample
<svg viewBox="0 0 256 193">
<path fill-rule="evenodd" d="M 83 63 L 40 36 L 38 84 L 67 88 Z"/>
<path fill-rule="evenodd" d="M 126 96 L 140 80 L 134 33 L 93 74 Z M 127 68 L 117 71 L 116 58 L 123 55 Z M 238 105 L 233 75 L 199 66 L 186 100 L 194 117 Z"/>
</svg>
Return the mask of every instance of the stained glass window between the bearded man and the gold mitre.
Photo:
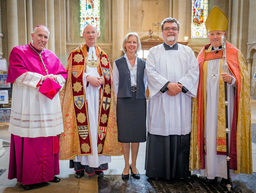
<svg viewBox="0 0 256 193">
<path fill-rule="evenodd" d="M 208 0 L 192 0 L 191 37 L 207 38 L 205 20 L 208 16 Z"/>
</svg>

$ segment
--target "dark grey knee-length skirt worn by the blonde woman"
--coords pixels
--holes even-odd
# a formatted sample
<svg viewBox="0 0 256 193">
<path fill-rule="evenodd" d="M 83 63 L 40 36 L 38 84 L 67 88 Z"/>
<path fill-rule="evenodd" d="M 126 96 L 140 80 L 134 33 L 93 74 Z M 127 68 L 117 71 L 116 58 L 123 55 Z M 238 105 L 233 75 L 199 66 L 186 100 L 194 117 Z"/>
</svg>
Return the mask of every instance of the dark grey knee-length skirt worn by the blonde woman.
<svg viewBox="0 0 256 193">
<path fill-rule="evenodd" d="M 116 117 L 118 141 L 139 143 L 146 141 L 146 99 L 117 98 Z"/>
</svg>

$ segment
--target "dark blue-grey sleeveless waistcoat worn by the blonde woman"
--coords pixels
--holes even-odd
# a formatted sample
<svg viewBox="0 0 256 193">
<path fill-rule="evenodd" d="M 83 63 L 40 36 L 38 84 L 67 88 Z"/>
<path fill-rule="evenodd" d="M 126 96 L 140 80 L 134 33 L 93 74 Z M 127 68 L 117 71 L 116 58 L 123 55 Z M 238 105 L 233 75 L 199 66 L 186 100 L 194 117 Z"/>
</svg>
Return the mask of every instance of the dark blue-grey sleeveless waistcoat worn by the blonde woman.
<svg viewBox="0 0 256 193">
<path fill-rule="evenodd" d="M 119 72 L 118 98 L 126 98 L 132 96 L 131 91 L 131 75 L 125 57 L 115 60 L 116 67 Z M 145 60 L 137 57 L 137 81 L 136 99 L 146 99 L 145 85 L 143 82 Z"/>
</svg>

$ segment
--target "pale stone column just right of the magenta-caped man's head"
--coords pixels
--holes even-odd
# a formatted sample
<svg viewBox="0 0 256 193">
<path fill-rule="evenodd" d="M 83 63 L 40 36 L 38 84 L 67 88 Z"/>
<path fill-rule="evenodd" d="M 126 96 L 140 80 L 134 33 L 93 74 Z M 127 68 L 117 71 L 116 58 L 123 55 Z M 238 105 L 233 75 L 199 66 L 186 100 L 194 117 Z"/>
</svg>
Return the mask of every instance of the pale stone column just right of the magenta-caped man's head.
<svg viewBox="0 0 256 193">
<path fill-rule="evenodd" d="M 47 0 L 47 28 L 50 31 L 47 49 L 55 53 L 55 35 L 54 35 L 54 0 Z"/>
</svg>

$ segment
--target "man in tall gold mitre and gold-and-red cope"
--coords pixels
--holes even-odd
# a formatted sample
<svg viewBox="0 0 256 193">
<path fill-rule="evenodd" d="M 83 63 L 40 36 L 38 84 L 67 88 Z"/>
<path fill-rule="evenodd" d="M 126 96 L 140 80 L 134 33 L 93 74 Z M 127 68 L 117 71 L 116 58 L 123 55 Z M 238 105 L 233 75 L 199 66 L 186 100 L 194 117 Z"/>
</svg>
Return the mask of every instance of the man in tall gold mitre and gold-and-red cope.
<svg viewBox="0 0 256 193">
<path fill-rule="evenodd" d="M 210 43 L 197 57 L 199 85 L 192 101 L 189 169 L 205 176 L 206 182 L 227 183 L 224 82 L 228 87 L 230 177 L 252 174 L 250 82 L 243 54 L 226 41 L 228 73 L 223 73 L 221 37 L 227 35 L 228 18 L 214 6 L 205 27 Z"/>
</svg>

